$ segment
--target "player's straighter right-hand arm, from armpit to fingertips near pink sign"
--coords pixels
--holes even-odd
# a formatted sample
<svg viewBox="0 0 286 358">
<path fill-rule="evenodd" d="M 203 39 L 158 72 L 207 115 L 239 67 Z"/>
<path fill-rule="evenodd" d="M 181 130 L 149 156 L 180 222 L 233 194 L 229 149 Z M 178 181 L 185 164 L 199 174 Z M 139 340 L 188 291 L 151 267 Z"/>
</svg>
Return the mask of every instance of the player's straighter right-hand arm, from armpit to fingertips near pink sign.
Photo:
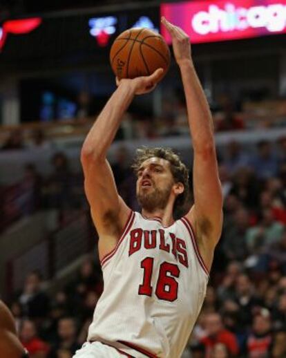
<svg viewBox="0 0 286 358">
<path fill-rule="evenodd" d="M 222 191 L 211 111 L 193 66 L 189 37 L 181 28 L 166 19 L 163 18 L 162 23 L 172 37 L 175 60 L 180 67 L 193 143 L 195 202 L 187 217 L 195 225 L 202 256 L 210 266 L 213 249 L 218 243 L 222 227 Z"/>
</svg>

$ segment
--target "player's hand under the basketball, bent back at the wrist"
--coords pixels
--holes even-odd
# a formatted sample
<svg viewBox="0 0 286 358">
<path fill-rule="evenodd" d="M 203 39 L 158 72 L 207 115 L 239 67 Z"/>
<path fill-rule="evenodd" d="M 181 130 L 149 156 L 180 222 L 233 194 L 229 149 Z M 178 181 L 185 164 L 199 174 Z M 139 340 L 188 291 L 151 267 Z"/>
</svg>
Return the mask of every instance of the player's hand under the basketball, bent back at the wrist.
<svg viewBox="0 0 286 358">
<path fill-rule="evenodd" d="M 142 76 L 136 77 L 133 79 L 122 78 L 118 79 L 116 77 L 116 84 L 120 86 L 122 84 L 129 84 L 133 87 L 133 91 L 135 95 L 144 95 L 145 93 L 149 93 L 153 91 L 155 86 L 157 86 L 160 78 L 162 77 L 163 69 L 158 68 L 154 73 L 150 76 Z"/>
</svg>

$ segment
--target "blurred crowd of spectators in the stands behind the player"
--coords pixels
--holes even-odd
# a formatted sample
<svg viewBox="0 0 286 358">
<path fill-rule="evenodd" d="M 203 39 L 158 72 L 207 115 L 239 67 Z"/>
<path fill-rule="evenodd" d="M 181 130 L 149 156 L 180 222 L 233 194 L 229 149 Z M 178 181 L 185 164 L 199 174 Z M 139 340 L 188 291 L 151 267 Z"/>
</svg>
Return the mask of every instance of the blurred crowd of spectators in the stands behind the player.
<svg viewBox="0 0 286 358">
<path fill-rule="evenodd" d="M 139 209 L 131 159 L 120 147 L 112 167 L 120 194 Z M 224 227 L 202 312 L 183 358 L 285 358 L 286 137 L 261 140 L 251 150 L 232 140 L 218 149 L 218 162 Z M 17 201 L 10 194 L 10 202 L 8 196 L 1 204 L 6 216 L 15 210 L 16 220 L 40 208 L 86 205 L 82 173 L 70 171 L 64 153 L 56 153 L 52 163 L 47 178 L 34 164 L 26 164 L 15 189 Z M 75 281 L 53 293 L 42 289 L 39 272 L 31 272 L 21 292 L 10 299 L 31 358 L 72 357 L 86 339 L 101 292 L 95 257 L 84 261 Z"/>
</svg>

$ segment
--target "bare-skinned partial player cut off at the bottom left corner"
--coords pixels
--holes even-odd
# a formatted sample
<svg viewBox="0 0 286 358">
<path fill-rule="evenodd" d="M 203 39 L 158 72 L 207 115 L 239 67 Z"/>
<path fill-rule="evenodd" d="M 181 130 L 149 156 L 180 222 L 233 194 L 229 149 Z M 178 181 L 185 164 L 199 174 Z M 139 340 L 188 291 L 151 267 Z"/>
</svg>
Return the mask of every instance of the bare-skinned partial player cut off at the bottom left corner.
<svg viewBox="0 0 286 358">
<path fill-rule="evenodd" d="M 28 358 L 28 352 L 17 338 L 15 321 L 10 310 L 0 300 L 0 357 Z"/>
</svg>

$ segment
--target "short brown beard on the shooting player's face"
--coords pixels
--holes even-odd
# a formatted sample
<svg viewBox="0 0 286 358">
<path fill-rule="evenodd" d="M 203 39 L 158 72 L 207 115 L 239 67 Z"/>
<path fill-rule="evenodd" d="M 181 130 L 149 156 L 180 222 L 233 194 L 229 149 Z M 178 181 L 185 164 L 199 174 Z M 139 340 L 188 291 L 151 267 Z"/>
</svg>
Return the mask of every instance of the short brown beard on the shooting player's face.
<svg viewBox="0 0 286 358">
<path fill-rule="evenodd" d="M 169 200 L 172 186 L 173 184 L 170 183 L 164 189 L 159 189 L 153 185 L 148 192 L 144 192 L 144 189 L 140 188 L 137 191 L 137 200 L 146 211 L 153 212 L 155 209 L 164 209 Z"/>
</svg>

